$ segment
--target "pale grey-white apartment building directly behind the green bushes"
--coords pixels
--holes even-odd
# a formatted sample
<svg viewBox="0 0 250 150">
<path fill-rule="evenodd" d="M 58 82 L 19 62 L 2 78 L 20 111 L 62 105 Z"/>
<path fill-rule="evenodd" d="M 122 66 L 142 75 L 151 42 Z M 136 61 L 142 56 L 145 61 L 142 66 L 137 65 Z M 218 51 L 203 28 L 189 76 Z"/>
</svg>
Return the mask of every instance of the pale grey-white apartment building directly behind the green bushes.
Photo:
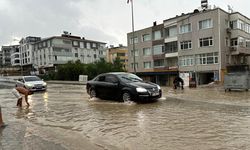
<svg viewBox="0 0 250 150">
<path fill-rule="evenodd" d="M 68 61 L 93 63 L 106 58 L 106 43 L 86 40 L 71 34 L 42 39 L 33 44 L 33 67 L 50 69 Z"/>
</svg>

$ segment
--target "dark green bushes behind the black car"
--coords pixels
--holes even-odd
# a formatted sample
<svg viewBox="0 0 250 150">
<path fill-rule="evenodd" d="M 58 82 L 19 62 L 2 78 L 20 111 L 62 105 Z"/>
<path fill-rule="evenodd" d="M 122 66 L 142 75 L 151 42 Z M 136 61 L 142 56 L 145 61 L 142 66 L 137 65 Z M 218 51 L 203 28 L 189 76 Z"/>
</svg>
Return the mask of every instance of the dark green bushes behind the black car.
<svg viewBox="0 0 250 150">
<path fill-rule="evenodd" d="M 78 81 L 79 75 L 88 75 L 88 79 L 92 79 L 101 73 L 122 71 L 125 70 L 119 58 L 114 60 L 114 63 L 106 62 L 104 59 L 91 64 L 70 61 L 67 64 L 57 66 L 57 72 L 53 78 L 55 80 Z"/>
</svg>

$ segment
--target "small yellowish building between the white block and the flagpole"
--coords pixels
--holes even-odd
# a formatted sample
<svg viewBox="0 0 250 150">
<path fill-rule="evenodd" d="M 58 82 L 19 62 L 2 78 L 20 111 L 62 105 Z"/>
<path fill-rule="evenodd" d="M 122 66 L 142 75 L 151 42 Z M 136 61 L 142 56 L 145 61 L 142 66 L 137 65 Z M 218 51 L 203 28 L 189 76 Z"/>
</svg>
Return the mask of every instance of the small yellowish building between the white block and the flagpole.
<svg viewBox="0 0 250 150">
<path fill-rule="evenodd" d="M 113 63 L 114 60 L 119 57 L 120 61 L 124 65 L 124 69 L 128 69 L 128 47 L 119 45 L 118 47 L 111 46 L 108 49 L 107 60 L 108 62 Z"/>
</svg>

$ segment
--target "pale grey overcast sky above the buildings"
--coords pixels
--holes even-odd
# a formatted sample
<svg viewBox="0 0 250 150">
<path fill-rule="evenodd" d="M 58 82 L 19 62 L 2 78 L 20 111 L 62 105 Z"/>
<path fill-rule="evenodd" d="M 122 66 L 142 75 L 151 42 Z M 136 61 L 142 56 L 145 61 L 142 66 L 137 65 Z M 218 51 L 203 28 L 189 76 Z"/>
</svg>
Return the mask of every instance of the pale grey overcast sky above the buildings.
<svg viewBox="0 0 250 150">
<path fill-rule="evenodd" d="M 192 12 L 201 0 L 134 0 L 135 30 Z M 208 0 L 225 11 L 231 5 L 250 18 L 249 0 Z M 127 0 L 0 0 L 0 46 L 17 43 L 22 37 L 42 38 L 72 35 L 108 45 L 127 45 L 132 31 L 131 5 Z M 108 46 L 107 45 L 107 46 Z"/>
</svg>

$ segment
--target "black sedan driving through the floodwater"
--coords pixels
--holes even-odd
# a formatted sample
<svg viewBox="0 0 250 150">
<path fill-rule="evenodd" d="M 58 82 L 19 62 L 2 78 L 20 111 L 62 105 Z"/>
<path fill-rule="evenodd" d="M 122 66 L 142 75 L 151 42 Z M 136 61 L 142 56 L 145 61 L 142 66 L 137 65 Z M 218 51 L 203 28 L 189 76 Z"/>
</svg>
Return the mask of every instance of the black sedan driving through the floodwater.
<svg viewBox="0 0 250 150">
<path fill-rule="evenodd" d="M 148 102 L 162 96 L 159 85 L 143 81 L 132 73 L 104 73 L 87 82 L 90 97 L 119 101 Z"/>
</svg>

